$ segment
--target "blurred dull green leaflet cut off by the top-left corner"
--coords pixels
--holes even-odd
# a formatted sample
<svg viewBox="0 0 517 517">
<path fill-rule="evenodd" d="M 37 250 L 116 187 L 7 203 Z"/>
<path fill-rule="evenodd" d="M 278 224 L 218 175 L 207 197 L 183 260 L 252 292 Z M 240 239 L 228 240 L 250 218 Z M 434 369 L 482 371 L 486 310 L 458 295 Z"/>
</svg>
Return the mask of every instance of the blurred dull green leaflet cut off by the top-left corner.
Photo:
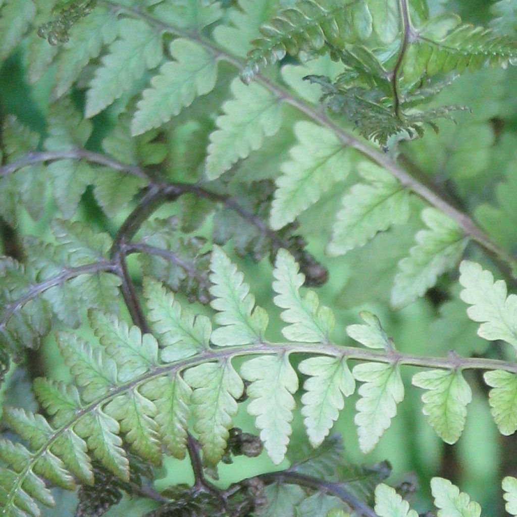
<svg viewBox="0 0 517 517">
<path fill-rule="evenodd" d="M 18 45 L 35 16 L 36 4 L 32 0 L 6 0 L 0 10 L 0 61 Z"/>
</svg>

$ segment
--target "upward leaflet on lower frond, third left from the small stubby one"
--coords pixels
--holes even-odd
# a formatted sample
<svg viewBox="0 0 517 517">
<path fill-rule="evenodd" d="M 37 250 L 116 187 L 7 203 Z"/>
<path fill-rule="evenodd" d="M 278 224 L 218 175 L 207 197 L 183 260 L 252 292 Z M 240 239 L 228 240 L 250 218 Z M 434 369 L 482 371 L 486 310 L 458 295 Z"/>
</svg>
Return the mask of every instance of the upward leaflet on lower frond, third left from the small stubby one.
<svg viewBox="0 0 517 517">
<path fill-rule="evenodd" d="M 144 296 L 148 318 L 160 344 L 162 361 L 172 362 L 190 357 L 209 347 L 212 326 L 206 316 L 182 308 L 161 282 L 144 279 Z"/>
</svg>

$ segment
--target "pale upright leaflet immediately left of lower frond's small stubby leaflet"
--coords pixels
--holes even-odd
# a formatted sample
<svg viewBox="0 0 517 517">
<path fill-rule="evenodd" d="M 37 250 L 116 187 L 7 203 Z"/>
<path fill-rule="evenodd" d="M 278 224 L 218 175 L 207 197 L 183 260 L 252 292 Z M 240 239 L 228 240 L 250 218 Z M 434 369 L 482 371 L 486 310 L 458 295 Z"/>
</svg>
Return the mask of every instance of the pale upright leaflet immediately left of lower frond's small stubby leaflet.
<svg viewBox="0 0 517 517">
<path fill-rule="evenodd" d="M 328 343 L 336 318 L 328 307 L 319 307 L 314 291 L 301 297 L 299 289 L 305 276 L 299 272 L 298 263 L 287 250 L 279 250 L 273 276 L 276 279 L 273 290 L 277 293 L 273 301 L 284 309 L 281 318 L 290 324 L 282 329 L 285 338 L 306 343 Z"/>
</svg>

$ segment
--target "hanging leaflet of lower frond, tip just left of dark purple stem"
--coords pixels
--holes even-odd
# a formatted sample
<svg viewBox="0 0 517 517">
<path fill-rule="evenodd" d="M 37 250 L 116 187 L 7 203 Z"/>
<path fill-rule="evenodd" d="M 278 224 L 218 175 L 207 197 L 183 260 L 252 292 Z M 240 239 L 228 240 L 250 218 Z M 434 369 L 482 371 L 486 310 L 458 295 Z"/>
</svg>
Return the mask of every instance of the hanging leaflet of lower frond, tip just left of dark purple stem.
<svg viewBox="0 0 517 517">
<path fill-rule="evenodd" d="M 155 420 L 167 451 L 183 459 L 187 447 L 187 420 L 192 394 L 190 386 L 176 373 L 143 384 L 141 392 L 158 409 Z"/>
</svg>

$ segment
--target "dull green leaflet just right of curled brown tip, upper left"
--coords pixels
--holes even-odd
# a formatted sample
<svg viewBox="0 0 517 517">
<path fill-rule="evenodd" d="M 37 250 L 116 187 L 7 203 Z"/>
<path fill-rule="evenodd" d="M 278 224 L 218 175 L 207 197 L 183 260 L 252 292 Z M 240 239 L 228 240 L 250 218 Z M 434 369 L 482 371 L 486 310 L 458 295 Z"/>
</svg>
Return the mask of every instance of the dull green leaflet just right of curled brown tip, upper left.
<svg viewBox="0 0 517 517">
<path fill-rule="evenodd" d="M 91 59 L 99 56 L 103 45 L 112 43 L 119 34 L 117 15 L 113 9 L 96 7 L 70 29 L 56 59 L 55 98 L 62 97 L 79 78 Z"/>
</svg>

